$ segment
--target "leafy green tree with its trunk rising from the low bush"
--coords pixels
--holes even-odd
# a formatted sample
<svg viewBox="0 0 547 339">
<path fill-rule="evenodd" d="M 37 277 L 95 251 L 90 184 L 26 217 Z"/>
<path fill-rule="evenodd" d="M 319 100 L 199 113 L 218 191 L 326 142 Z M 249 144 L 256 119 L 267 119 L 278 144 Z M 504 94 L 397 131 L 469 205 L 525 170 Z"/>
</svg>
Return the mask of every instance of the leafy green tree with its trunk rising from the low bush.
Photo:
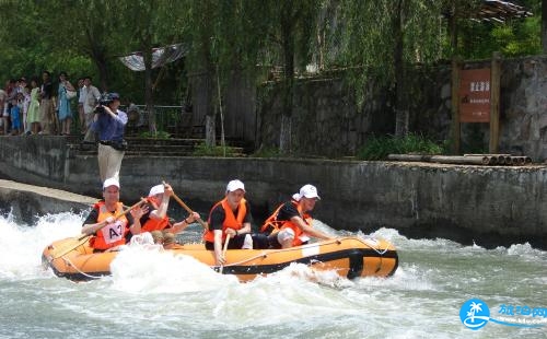
<svg viewBox="0 0 547 339">
<path fill-rule="evenodd" d="M 349 75 L 362 102 L 365 84 L 395 93 L 395 135 L 408 132 L 410 93 L 406 86 L 408 70 L 416 63 L 429 63 L 442 55 L 439 20 L 443 1 L 433 0 L 342 0 L 337 27 L 339 59 L 353 68 Z"/>
</svg>

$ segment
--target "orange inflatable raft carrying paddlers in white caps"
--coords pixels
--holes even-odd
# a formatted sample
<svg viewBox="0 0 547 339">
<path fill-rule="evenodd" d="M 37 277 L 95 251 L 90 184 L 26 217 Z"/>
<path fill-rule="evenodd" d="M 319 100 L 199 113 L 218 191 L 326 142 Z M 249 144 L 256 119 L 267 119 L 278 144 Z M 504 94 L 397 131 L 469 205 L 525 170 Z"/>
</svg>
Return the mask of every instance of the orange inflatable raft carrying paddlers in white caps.
<svg viewBox="0 0 547 339">
<path fill-rule="evenodd" d="M 182 245 L 168 249 L 187 255 L 218 269 L 212 250 L 202 244 Z M 58 277 L 84 281 L 110 274 L 110 262 L 117 252 L 93 253 L 88 238 L 70 237 L 54 242 L 44 249 L 42 260 Z M 252 280 L 283 269 L 291 262 L 311 266 L 314 270 L 335 270 L 348 279 L 388 277 L 398 266 L 397 252 L 383 239 L 340 237 L 286 249 L 229 249 L 224 274 L 235 274 L 241 281 Z"/>
</svg>

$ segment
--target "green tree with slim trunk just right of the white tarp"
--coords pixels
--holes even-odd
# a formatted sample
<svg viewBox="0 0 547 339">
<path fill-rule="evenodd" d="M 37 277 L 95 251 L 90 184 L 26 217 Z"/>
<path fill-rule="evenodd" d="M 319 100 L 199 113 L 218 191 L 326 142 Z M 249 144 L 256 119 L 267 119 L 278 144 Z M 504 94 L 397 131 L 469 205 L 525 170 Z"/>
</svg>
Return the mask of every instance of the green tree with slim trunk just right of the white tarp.
<svg viewBox="0 0 547 339">
<path fill-rule="evenodd" d="M 195 106 L 206 116 L 208 147 L 216 144 L 217 113 L 222 112 L 222 93 L 230 79 L 240 72 L 254 79 L 257 62 L 264 60 L 259 56 L 265 55 L 265 13 L 259 0 L 188 2 L 184 39 L 191 46 L 188 69 L 198 101 Z"/>
</svg>

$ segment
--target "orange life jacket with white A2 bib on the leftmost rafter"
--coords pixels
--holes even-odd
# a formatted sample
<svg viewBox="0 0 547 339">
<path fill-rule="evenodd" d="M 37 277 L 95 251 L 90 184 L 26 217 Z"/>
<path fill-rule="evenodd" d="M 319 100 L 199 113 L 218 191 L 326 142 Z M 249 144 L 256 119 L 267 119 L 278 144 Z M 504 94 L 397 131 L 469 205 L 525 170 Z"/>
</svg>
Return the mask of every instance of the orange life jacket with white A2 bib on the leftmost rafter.
<svg viewBox="0 0 547 339">
<path fill-rule="evenodd" d="M 108 217 L 114 217 L 110 211 L 106 209 L 104 201 L 95 203 L 95 209 L 98 210 L 97 222 L 106 220 Z M 116 202 L 116 213 L 124 212 L 124 204 Z M 127 226 L 128 220 L 126 215 L 119 217 L 115 222 L 107 224 L 98 230 L 95 235 L 90 239 L 90 246 L 95 249 L 108 249 L 126 243 L 126 234 L 129 232 Z"/>
</svg>

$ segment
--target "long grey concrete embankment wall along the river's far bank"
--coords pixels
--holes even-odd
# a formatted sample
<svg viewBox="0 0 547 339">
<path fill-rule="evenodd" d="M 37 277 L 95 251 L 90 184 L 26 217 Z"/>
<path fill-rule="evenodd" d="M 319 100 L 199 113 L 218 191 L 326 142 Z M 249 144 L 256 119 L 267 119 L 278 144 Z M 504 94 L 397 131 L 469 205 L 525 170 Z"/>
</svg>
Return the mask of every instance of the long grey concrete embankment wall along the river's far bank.
<svg viewBox="0 0 547 339">
<path fill-rule="evenodd" d="M 96 157 L 70 153 L 62 137 L 0 137 L 0 156 L 3 178 L 101 196 Z M 385 226 L 419 238 L 547 248 L 547 167 L 539 165 L 126 156 L 121 196 L 131 203 L 166 180 L 188 206 L 207 212 L 232 178 L 245 183 L 257 221 L 311 183 L 322 196 L 316 218 L 335 229 Z"/>
</svg>

